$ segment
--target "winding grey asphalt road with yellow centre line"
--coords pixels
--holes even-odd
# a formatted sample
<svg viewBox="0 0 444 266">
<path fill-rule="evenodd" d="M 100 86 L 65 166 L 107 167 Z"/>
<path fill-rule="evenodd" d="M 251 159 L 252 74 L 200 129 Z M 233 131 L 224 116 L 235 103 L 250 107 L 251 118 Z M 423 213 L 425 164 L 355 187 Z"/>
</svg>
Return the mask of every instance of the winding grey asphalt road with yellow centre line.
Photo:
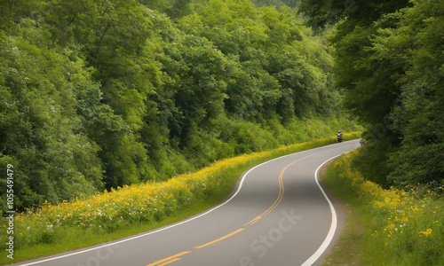
<svg viewBox="0 0 444 266">
<path fill-rule="evenodd" d="M 359 145 L 353 140 L 267 161 L 242 175 L 229 200 L 202 215 L 17 265 L 319 265 L 340 219 L 316 175 L 324 162 Z"/>
</svg>

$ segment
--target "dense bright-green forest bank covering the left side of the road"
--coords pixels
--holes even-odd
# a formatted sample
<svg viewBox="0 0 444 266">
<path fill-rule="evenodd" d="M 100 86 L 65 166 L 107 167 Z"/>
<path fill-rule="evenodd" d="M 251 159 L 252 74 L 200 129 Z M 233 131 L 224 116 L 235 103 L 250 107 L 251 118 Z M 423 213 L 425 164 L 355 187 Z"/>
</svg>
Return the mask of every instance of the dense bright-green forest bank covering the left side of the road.
<svg viewBox="0 0 444 266">
<path fill-rule="evenodd" d="M 326 34 L 297 4 L 1 1 L 0 168 L 13 166 L 15 207 L 356 129 Z"/>
</svg>

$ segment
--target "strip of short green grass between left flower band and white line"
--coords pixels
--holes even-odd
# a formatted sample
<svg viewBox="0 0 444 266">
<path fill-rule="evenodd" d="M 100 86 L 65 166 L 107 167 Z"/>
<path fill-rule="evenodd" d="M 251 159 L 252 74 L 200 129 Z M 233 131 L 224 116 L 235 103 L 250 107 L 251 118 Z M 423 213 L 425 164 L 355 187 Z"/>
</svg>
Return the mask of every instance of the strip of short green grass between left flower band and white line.
<svg viewBox="0 0 444 266">
<path fill-rule="evenodd" d="M 345 140 L 358 138 L 360 135 L 359 132 L 348 134 L 345 135 Z M 16 247 L 14 250 L 14 260 L 7 258 L 5 251 L 1 250 L 0 264 L 4 265 L 11 262 L 21 262 L 24 260 L 36 259 L 45 255 L 58 254 L 77 248 L 93 246 L 115 239 L 123 239 L 141 232 L 154 230 L 170 223 L 176 223 L 190 216 L 202 213 L 210 207 L 214 207 L 226 200 L 226 197 L 234 190 L 234 186 L 238 181 L 239 176 L 241 176 L 242 172 L 248 168 L 258 165 L 266 160 L 272 160 L 289 153 L 297 153 L 333 143 L 336 143 L 335 137 L 324 138 L 299 145 L 289 145 L 266 153 L 260 153 L 261 156 L 253 156 L 252 160 L 246 160 L 238 165 L 233 165 L 229 169 L 219 171 L 217 174 L 218 180 L 222 180 L 223 182 L 218 184 L 217 190 L 213 191 L 210 197 L 195 200 L 191 205 L 178 208 L 177 211 L 173 211 L 168 215 L 163 215 L 158 221 L 151 221 L 149 223 L 126 223 L 125 221 L 115 219 L 115 223 L 125 224 L 116 224 L 116 229 L 113 231 L 105 231 L 103 229 L 98 229 L 98 227 L 82 228 L 75 226 L 54 226 L 54 230 L 52 232 L 46 232 L 45 237 L 41 238 L 43 240 L 39 240 L 38 244 Z M 26 234 L 26 231 L 16 231 L 15 234 Z M 33 238 L 33 236 L 29 235 L 26 236 L 26 238 Z M 4 241 L 4 239 L 2 238 L 1 241 Z"/>
</svg>

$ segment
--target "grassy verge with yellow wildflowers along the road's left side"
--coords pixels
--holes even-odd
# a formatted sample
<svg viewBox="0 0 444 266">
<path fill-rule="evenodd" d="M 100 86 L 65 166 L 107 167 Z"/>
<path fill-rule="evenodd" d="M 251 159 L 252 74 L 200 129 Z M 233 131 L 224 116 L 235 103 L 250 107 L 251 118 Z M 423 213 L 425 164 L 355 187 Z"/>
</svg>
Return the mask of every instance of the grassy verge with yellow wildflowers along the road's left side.
<svg viewBox="0 0 444 266">
<path fill-rule="evenodd" d="M 345 140 L 361 136 L 346 134 Z M 266 160 L 336 143 L 335 137 L 219 160 L 208 168 L 162 183 L 125 186 L 14 218 L 14 259 L 0 250 L 0 264 L 122 239 L 196 215 L 233 191 L 242 172 Z M 3 221 L 6 224 L 7 221 Z M 4 225 L 5 226 L 5 225 Z M 6 243 L 6 230 L 0 241 Z"/>
</svg>

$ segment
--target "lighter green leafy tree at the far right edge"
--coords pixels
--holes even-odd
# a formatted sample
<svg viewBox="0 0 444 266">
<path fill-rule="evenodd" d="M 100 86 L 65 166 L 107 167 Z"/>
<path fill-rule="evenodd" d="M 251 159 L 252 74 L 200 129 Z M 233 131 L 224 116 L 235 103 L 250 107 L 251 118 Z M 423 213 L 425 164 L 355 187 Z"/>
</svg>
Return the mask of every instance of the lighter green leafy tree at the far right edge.
<svg viewBox="0 0 444 266">
<path fill-rule="evenodd" d="M 405 60 L 400 104 L 392 112 L 392 129 L 402 138 L 389 176 L 400 184 L 442 182 L 444 173 L 444 4 L 413 3 L 391 15 L 399 19 L 397 27 L 380 30 L 374 48 L 379 57 Z"/>
</svg>

